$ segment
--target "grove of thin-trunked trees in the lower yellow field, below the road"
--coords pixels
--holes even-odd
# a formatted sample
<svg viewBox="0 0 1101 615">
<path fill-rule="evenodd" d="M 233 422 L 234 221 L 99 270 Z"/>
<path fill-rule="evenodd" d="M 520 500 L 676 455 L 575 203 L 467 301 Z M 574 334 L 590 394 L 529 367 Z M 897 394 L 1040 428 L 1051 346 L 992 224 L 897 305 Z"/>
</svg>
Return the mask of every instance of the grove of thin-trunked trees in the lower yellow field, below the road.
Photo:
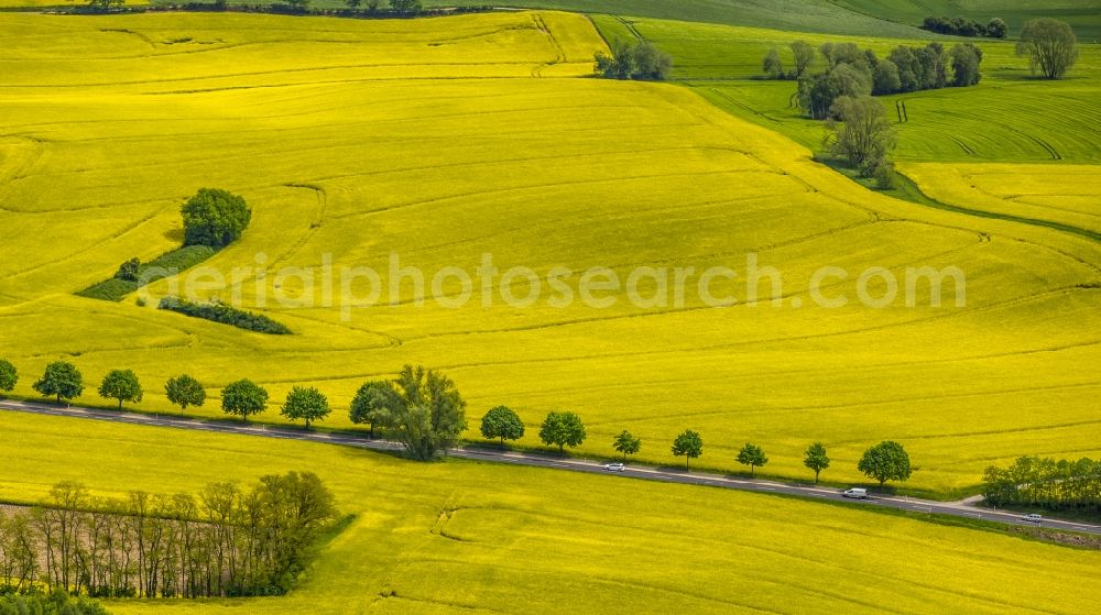
<svg viewBox="0 0 1101 615">
<path fill-rule="evenodd" d="M 336 518 L 331 492 L 308 472 L 263 476 L 247 492 L 211 483 L 198 496 L 134 491 L 126 499 L 63 482 L 42 506 L 0 516 L 0 591 L 279 595 Z"/>
</svg>

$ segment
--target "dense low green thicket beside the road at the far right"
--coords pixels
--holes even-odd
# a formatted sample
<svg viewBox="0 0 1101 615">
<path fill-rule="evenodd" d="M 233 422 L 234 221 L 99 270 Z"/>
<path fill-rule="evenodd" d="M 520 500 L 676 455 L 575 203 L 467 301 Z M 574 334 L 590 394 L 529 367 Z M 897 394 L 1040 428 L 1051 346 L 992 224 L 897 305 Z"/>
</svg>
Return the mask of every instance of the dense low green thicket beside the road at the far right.
<svg viewBox="0 0 1101 615">
<path fill-rule="evenodd" d="M 994 506 L 1038 506 L 1101 514 L 1101 460 L 1022 457 L 1009 468 L 991 465 L 982 495 Z"/>
</svg>

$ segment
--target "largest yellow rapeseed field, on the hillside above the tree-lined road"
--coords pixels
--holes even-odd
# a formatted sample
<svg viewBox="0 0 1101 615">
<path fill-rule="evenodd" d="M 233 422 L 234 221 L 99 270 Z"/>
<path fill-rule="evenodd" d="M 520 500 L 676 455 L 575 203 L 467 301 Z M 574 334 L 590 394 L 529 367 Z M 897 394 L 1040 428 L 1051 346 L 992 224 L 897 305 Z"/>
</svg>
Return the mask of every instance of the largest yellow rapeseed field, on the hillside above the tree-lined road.
<svg viewBox="0 0 1101 615">
<path fill-rule="evenodd" d="M 4 14 L 0 30 L 0 355 L 21 370 L 17 394 L 33 395 L 43 366 L 65 359 L 91 385 L 77 403 L 98 400 L 107 371 L 132 367 L 143 407 L 166 410 L 163 383 L 188 372 L 215 396 L 203 415 L 220 414 L 221 386 L 251 377 L 272 391 L 261 418 L 280 420 L 288 388 L 313 384 L 336 408 L 325 425 L 348 426 L 364 380 L 414 362 L 456 381 L 471 427 L 494 405 L 515 408 L 523 446 L 537 444 L 548 410 L 577 411 L 582 454 L 611 454 L 612 436 L 631 429 L 642 459 L 676 463 L 669 442 L 694 428 L 704 465 L 735 469 L 752 440 L 766 472 L 806 477 L 802 452 L 821 440 L 825 477 L 840 482 L 859 480 L 860 453 L 890 438 L 918 468 L 908 485 L 938 492 L 1021 454 L 1101 454 L 1097 242 L 866 191 L 682 86 L 578 78 L 603 48 L 584 17 Z M 396 254 L 430 279 L 490 253 L 541 284 L 568 267 L 576 285 L 593 266 L 620 279 L 639 266 L 744 274 L 755 253 L 783 275 L 781 288 L 760 285 L 780 307 L 748 305 L 741 283 L 733 307 L 694 292 L 650 307 L 623 293 L 606 308 L 555 307 L 549 295 L 515 307 L 500 294 L 490 306 L 417 306 L 407 282 L 394 306 L 350 320 L 339 303 L 269 301 L 265 314 L 296 332 L 269 337 L 73 296 L 131 256 L 178 245 L 178 208 L 203 186 L 254 209 L 242 240 L 207 262 L 227 276 L 260 254 L 273 272 L 330 260 L 383 273 Z M 844 307 L 807 294 L 826 265 L 851 272 L 827 288 Z M 966 306 L 949 283 L 931 307 L 925 282 L 915 307 L 864 307 L 857 278 L 872 266 L 900 278 L 959 267 Z M 244 279 L 249 306 L 258 293 Z M 445 296 L 461 294 L 445 282 Z M 260 286 L 294 296 L 305 283 Z M 519 296 L 530 286 L 513 285 Z M 201 293 L 215 295 L 230 294 Z"/>
</svg>

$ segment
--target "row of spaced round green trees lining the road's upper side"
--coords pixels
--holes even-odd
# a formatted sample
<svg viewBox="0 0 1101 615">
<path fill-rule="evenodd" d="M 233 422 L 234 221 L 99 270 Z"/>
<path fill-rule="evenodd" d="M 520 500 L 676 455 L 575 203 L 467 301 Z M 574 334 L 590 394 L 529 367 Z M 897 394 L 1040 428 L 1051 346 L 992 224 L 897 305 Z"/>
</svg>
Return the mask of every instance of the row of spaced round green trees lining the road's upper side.
<svg viewBox="0 0 1101 615">
<path fill-rule="evenodd" d="M 17 380 L 14 366 L 0 360 L 0 391 L 11 391 Z M 45 374 L 34 387 L 43 395 L 57 395 L 57 399 L 62 400 L 79 396 L 83 384 L 76 366 L 58 362 L 46 366 Z M 140 402 L 142 398 L 141 384 L 130 370 L 110 372 L 103 378 L 99 393 L 118 399 L 119 407 L 122 400 Z M 206 402 L 203 385 L 186 374 L 170 378 L 165 393 L 168 400 L 182 410 L 203 406 Z M 222 410 L 240 416 L 242 420 L 263 413 L 268 408 L 268 389 L 249 380 L 230 383 L 221 389 Z M 455 383 L 447 376 L 424 366 L 405 365 L 394 380 L 369 381 L 360 386 L 351 402 L 349 418 L 353 424 L 369 426 L 372 438 L 378 429 L 385 438 L 400 442 L 410 457 L 428 460 L 459 442 L 467 428 L 466 405 Z M 291 389 L 281 409 L 284 417 L 304 420 L 307 428 L 330 411 L 328 399 L 320 391 L 302 386 Z M 491 408 L 481 420 L 481 435 L 500 440 L 502 444 L 523 438 L 524 431 L 523 420 L 506 406 Z M 548 413 L 539 426 L 539 440 L 548 447 L 557 447 L 559 452 L 565 452 L 566 447 L 580 446 L 586 437 L 581 418 L 570 411 Z M 623 430 L 615 436 L 612 448 L 625 461 L 642 449 L 642 440 Z M 691 459 L 704 453 L 704 442 L 698 432 L 686 430 L 674 440 L 672 450 L 675 457 L 685 458 L 687 469 Z M 749 466 L 751 476 L 756 468 L 768 462 L 764 450 L 751 442 L 742 447 L 737 460 Z M 820 442 L 807 449 L 804 464 L 815 472 L 816 483 L 829 463 L 826 447 Z M 911 474 L 909 457 L 901 444 L 881 442 L 864 453 L 858 469 L 877 480 L 880 485 L 889 480 L 905 481 Z"/>
</svg>

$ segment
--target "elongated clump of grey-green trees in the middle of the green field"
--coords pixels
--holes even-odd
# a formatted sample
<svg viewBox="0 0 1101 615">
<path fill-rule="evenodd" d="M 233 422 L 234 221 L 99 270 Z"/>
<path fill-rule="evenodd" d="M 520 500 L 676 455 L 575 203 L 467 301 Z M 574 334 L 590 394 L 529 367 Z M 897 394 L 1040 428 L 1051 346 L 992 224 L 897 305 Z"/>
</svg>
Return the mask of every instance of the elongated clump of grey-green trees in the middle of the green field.
<svg viewBox="0 0 1101 615">
<path fill-rule="evenodd" d="M 924 47 L 898 45 L 885 58 L 855 43 L 825 43 L 817 52 L 824 61 L 822 70 L 816 73 L 809 70 L 817 63 L 810 45 L 796 41 L 792 52 L 794 70 L 784 70 L 780 52 L 773 48 L 764 58 L 764 73 L 772 78 L 798 79 L 799 108 L 816 120 L 830 117 L 833 101 L 842 96 L 966 87 L 982 78 L 982 50 L 971 43 L 959 43 L 950 51 L 940 43 Z"/>
</svg>

